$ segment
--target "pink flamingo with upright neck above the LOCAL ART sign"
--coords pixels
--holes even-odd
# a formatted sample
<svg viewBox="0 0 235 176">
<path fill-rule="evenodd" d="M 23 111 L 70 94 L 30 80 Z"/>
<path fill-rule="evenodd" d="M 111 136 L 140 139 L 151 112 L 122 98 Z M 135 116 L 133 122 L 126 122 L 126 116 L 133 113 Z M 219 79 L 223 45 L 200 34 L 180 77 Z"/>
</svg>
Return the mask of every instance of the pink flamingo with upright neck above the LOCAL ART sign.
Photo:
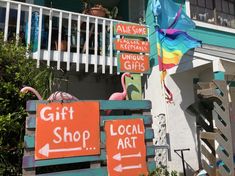
<svg viewBox="0 0 235 176">
<path fill-rule="evenodd" d="M 125 77 L 131 77 L 130 73 L 124 73 L 121 77 L 121 83 L 122 83 L 122 92 L 115 92 L 110 97 L 109 100 L 124 100 L 126 98 L 127 90 L 126 90 L 126 84 L 125 84 Z M 106 115 L 109 115 L 111 113 L 111 110 L 106 111 Z"/>
</svg>

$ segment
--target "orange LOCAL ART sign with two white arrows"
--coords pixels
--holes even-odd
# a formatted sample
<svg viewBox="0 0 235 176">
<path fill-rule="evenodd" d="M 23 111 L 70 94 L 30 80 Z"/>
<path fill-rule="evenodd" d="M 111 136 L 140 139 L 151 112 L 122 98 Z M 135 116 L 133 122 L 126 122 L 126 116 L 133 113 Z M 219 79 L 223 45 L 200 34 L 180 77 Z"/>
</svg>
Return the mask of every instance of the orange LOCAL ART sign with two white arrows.
<svg viewBox="0 0 235 176">
<path fill-rule="evenodd" d="M 142 119 L 105 122 L 109 176 L 147 175 Z"/>
</svg>

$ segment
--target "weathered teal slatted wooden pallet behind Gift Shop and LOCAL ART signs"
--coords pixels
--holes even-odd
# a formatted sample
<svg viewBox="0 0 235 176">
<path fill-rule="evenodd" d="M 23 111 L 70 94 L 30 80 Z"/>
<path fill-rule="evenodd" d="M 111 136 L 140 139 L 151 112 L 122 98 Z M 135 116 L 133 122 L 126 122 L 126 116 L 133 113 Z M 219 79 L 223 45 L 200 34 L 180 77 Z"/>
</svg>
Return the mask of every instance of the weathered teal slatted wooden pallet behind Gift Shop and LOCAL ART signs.
<svg viewBox="0 0 235 176">
<path fill-rule="evenodd" d="M 79 101 L 83 102 L 83 101 Z M 26 119 L 26 135 L 24 137 L 25 153 L 23 157 L 23 175 L 97 175 L 97 176 L 107 176 L 107 156 L 106 156 L 106 133 L 104 131 L 104 125 L 106 121 L 117 120 L 117 119 L 143 119 L 143 124 L 145 126 L 145 143 L 146 143 L 146 161 L 148 170 L 152 171 L 156 168 L 153 158 L 155 157 L 155 147 L 154 145 L 149 145 L 154 137 L 152 125 L 152 116 L 144 115 L 146 112 L 150 112 L 151 102 L 150 101 L 99 101 L 100 103 L 100 113 L 104 110 L 125 110 L 129 111 L 128 114 L 135 115 L 118 115 L 118 116 L 100 116 L 100 154 L 91 156 L 74 156 L 74 157 L 63 157 L 63 158 L 53 158 L 46 160 L 35 160 L 34 149 L 35 149 L 35 129 L 36 129 L 36 109 L 37 104 L 48 103 L 47 101 L 28 101 L 27 111 L 29 116 Z M 138 113 L 138 114 L 137 114 Z M 92 119 L 91 119 L 92 120 Z M 47 130 L 45 129 L 45 133 Z M 148 145 L 147 145 L 148 144 Z M 85 168 L 77 170 L 61 170 L 60 172 L 54 170 L 53 172 L 47 171 L 46 173 L 38 172 L 37 169 L 44 167 L 63 167 L 66 165 L 79 163 L 90 163 L 90 165 Z M 94 168 L 95 167 L 95 168 Z"/>
</svg>

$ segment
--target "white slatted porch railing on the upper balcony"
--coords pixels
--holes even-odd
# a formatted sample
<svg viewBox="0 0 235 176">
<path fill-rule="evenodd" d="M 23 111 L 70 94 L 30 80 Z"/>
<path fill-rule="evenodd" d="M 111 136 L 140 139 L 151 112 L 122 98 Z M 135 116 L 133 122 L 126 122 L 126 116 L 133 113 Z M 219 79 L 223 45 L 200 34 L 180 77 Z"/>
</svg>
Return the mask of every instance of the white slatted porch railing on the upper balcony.
<svg viewBox="0 0 235 176">
<path fill-rule="evenodd" d="M 75 63 L 76 71 L 81 71 L 80 66 L 84 64 L 85 72 L 105 73 L 109 68 L 113 74 L 117 66 L 113 51 L 115 22 L 118 21 L 0 0 L 0 29 L 4 40 L 14 36 L 19 40 L 17 36 L 20 36 L 26 46 L 31 46 L 37 67 L 44 60 L 48 66 L 56 62 L 57 69 L 65 62 L 67 70 Z"/>
</svg>

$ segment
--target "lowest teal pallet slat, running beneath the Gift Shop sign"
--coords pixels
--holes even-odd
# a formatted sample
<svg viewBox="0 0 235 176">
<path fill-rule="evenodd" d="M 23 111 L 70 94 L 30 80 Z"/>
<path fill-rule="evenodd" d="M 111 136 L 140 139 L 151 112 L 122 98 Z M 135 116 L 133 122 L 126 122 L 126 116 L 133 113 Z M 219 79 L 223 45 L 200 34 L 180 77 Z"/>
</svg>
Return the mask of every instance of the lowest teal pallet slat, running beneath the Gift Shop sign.
<svg viewBox="0 0 235 176">
<path fill-rule="evenodd" d="M 154 161 L 148 162 L 147 166 L 148 166 L 149 172 L 152 172 L 156 169 L 156 163 Z M 91 169 L 81 169 L 81 170 L 39 174 L 38 176 L 108 176 L 108 171 L 107 171 L 107 167 L 101 167 L 101 168 L 91 168 Z"/>
</svg>

